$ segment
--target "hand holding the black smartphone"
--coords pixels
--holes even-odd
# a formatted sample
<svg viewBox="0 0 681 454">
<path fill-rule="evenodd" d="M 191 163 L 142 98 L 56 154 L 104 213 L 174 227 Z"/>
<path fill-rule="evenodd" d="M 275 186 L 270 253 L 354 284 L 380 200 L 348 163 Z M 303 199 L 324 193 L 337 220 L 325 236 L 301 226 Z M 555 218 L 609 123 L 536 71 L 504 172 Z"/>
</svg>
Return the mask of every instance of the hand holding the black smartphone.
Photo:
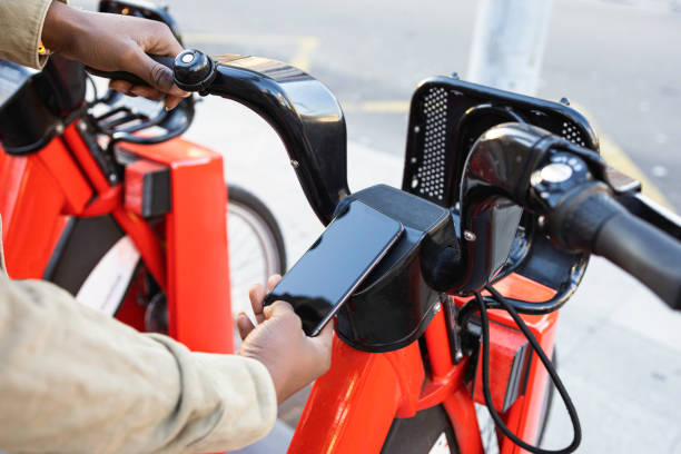
<svg viewBox="0 0 681 454">
<path fill-rule="evenodd" d="M 282 276 L 272 276 L 267 287 L 272 290 L 280 279 Z M 267 367 L 282 403 L 328 371 L 334 330 L 328 324 L 318 336 L 307 337 L 293 307 L 286 302 L 263 307 L 265 295 L 261 285 L 248 292 L 257 326 L 244 313 L 237 317 L 244 339 L 239 355 L 258 359 Z"/>
</svg>

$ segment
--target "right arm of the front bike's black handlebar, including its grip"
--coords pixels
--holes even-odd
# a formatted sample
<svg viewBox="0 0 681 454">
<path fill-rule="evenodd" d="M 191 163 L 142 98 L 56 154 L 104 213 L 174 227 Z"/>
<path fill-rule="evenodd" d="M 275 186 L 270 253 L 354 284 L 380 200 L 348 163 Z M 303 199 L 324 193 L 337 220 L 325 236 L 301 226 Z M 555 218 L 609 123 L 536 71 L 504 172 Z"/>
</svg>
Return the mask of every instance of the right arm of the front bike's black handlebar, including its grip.
<svg viewBox="0 0 681 454">
<path fill-rule="evenodd" d="M 499 266 L 488 257 L 507 255 L 503 229 L 517 220 L 500 203 L 505 199 L 543 216 L 561 247 L 602 255 L 681 309 L 681 241 L 664 231 L 669 225 L 653 226 L 621 205 L 606 174 L 605 162 L 593 151 L 541 128 L 503 124 L 488 129 L 473 146 L 461 185 L 465 274 L 454 289 L 478 289 Z M 488 233 L 485 238 L 503 235 L 494 241 L 466 237 L 466 231 L 481 229 Z"/>
</svg>

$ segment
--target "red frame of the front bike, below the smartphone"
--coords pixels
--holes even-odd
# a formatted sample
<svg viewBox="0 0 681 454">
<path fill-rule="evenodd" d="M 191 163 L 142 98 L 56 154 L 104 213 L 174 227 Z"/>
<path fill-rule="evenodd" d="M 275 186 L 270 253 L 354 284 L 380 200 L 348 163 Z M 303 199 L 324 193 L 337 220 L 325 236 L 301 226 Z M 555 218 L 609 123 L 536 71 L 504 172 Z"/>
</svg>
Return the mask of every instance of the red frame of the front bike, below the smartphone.
<svg viewBox="0 0 681 454">
<path fill-rule="evenodd" d="M 511 275 L 495 287 L 510 297 L 541 300 L 553 290 L 517 275 Z M 455 298 L 457 305 L 464 299 Z M 494 338 L 516 332 L 511 317 L 501 310 L 490 310 L 490 319 L 499 328 Z M 542 316 L 523 316 L 547 355 L 553 351 L 557 312 Z M 451 359 L 450 340 L 443 312 L 438 312 L 425 332 L 430 358 L 426 371 L 418 343 L 391 353 L 365 353 L 340 342 L 334 342 L 332 368 L 312 391 L 303 416 L 288 450 L 289 453 L 378 453 L 393 420 L 412 417 L 417 411 L 442 404 L 456 434 L 462 454 L 483 452 L 470 384 L 464 381 L 467 358 L 460 364 Z M 491 362 L 492 375 L 495 372 Z M 480 373 L 477 374 L 481 375 Z M 477 378 L 480 381 L 480 378 Z M 532 359 L 523 396 L 503 414 L 509 428 L 525 441 L 536 442 L 541 430 L 541 412 L 546 393 L 547 374 L 535 356 Z M 492 383 L 492 393 L 495 389 Z M 502 438 L 503 454 L 522 450 Z"/>
</svg>

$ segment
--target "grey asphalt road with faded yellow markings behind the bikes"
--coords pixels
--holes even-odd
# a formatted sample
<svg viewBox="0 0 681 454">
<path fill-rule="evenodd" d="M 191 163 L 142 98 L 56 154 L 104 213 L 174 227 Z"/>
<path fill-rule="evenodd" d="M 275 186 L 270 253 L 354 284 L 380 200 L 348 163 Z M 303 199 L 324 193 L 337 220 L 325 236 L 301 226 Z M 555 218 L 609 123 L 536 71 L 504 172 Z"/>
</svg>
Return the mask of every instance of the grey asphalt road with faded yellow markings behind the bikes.
<svg viewBox="0 0 681 454">
<path fill-rule="evenodd" d="M 188 46 L 305 66 L 340 100 L 351 140 L 395 155 L 418 81 L 453 71 L 465 79 L 476 13 L 476 2 L 440 0 L 169 6 Z M 584 107 L 677 210 L 680 42 L 679 1 L 555 0 L 539 91 Z"/>
</svg>

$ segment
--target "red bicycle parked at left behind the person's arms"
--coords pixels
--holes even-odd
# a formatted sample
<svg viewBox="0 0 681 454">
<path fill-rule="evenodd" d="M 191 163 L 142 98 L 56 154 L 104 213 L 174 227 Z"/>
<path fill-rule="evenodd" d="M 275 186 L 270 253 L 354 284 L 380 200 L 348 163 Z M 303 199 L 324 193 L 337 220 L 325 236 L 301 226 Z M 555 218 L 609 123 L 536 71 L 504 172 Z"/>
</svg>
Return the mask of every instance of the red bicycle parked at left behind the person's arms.
<svg viewBox="0 0 681 454">
<path fill-rule="evenodd" d="M 246 189 L 227 188 L 219 154 L 178 138 L 193 98 L 171 112 L 96 89 L 88 102 L 87 80 L 58 56 L 40 72 L 0 61 L 10 276 L 50 280 L 138 329 L 231 353 L 247 286 L 286 269 L 276 219 Z"/>
</svg>

